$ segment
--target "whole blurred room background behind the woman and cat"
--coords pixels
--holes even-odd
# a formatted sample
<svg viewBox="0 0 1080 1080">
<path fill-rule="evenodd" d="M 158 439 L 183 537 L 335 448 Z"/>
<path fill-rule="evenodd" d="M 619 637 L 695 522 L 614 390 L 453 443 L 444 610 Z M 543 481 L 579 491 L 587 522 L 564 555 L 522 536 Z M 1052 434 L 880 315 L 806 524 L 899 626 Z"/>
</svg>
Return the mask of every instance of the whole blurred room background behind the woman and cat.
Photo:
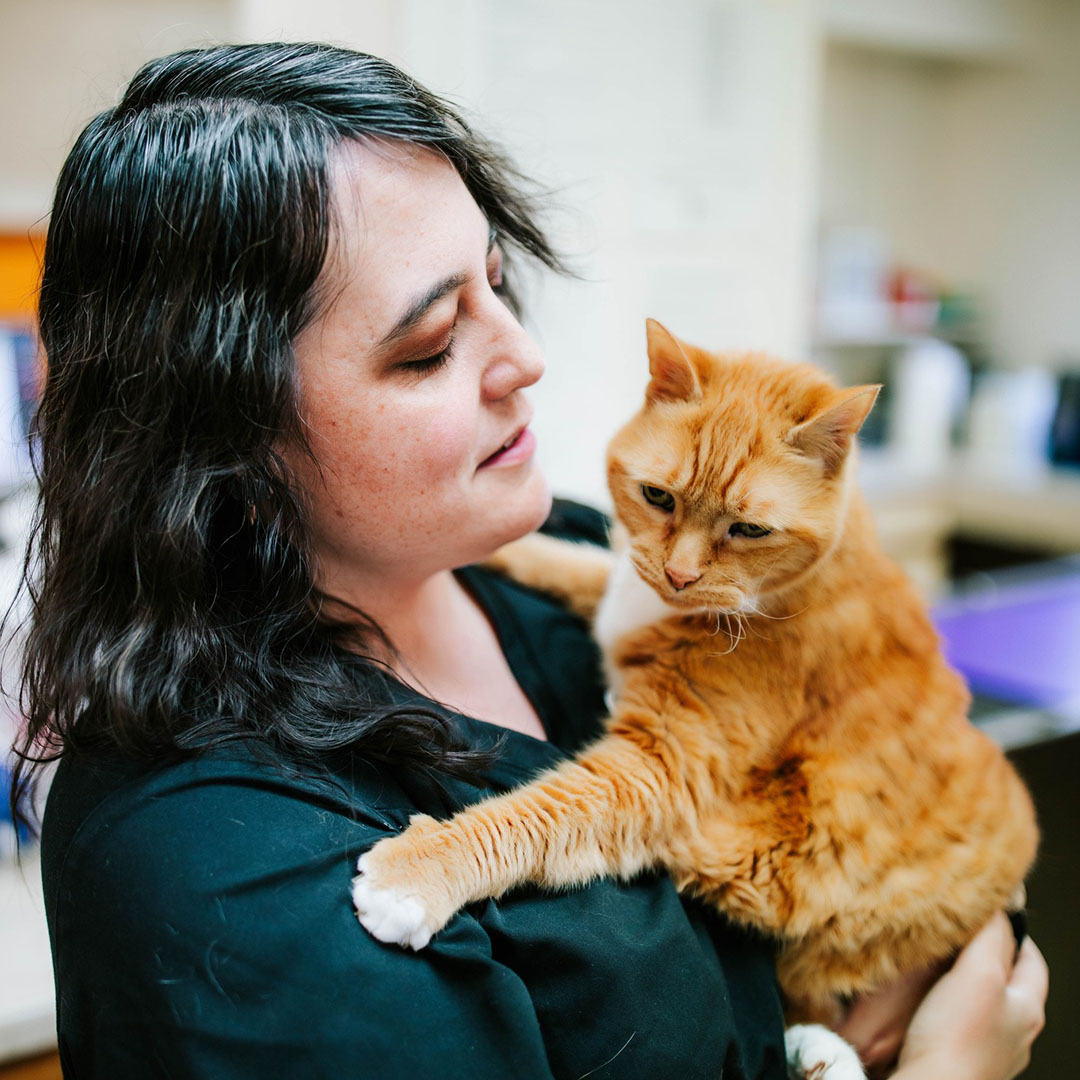
<svg viewBox="0 0 1080 1080">
<path fill-rule="evenodd" d="M 144 60 L 271 39 L 394 60 L 552 192 L 580 276 L 531 279 L 528 322 L 559 494 L 607 504 L 604 446 L 642 395 L 647 315 L 698 345 L 885 383 L 862 486 L 935 604 L 976 720 L 1036 791 L 1031 922 L 1054 988 L 1028 1076 L 1074 1075 L 1080 0 L 0 0 L 6 596 L 60 163 Z M 49 1049 L 52 986 L 32 848 L 21 867 L 0 855 L 0 874 L 13 1061 Z M 48 1057 L 25 1068 L 58 1075 Z"/>
</svg>

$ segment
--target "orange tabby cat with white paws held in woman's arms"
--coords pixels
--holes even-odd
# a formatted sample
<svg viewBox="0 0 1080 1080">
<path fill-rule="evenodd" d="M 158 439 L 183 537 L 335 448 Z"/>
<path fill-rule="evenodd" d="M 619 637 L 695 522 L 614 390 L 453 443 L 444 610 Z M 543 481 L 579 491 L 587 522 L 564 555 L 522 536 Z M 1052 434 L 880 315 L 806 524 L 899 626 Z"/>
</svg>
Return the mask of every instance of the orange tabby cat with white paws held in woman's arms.
<svg viewBox="0 0 1080 1080">
<path fill-rule="evenodd" d="M 596 613 L 607 734 L 450 821 L 414 818 L 360 860 L 357 913 L 421 948 L 522 882 L 664 867 L 781 940 L 791 1017 L 835 1020 L 838 996 L 947 957 L 1009 904 L 1031 802 L 855 490 L 878 388 L 651 320 L 648 339 L 645 406 L 608 451 L 613 570 L 544 537 L 495 559 Z"/>
</svg>

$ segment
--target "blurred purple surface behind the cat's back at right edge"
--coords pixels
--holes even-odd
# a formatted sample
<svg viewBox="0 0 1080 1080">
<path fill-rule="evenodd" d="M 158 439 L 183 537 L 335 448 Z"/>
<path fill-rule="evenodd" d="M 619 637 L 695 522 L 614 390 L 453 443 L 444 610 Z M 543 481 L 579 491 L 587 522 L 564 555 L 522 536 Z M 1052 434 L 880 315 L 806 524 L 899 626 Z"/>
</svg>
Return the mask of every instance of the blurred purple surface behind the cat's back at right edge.
<svg viewBox="0 0 1080 1080">
<path fill-rule="evenodd" d="M 1037 707 L 1080 702 L 1080 572 L 951 602 L 934 623 L 976 693 Z"/>
</svg>

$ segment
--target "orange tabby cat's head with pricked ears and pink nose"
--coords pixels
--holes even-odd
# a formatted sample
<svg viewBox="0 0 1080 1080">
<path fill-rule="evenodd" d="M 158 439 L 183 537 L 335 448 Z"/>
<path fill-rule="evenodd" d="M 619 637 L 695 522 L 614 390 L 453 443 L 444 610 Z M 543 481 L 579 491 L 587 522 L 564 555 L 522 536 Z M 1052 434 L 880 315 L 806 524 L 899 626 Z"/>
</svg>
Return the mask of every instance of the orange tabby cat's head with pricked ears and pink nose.
<svg viewBox="0 0 1080 1080">
<path fill-rule="evenodd" d="M 608 448 L 631 557 L 673 605 L 753 611 L 834 549 L 853 436 L 880 388 L 708 353 L 651 319 L 647 332 L 645 406 Z"/>
</svg>

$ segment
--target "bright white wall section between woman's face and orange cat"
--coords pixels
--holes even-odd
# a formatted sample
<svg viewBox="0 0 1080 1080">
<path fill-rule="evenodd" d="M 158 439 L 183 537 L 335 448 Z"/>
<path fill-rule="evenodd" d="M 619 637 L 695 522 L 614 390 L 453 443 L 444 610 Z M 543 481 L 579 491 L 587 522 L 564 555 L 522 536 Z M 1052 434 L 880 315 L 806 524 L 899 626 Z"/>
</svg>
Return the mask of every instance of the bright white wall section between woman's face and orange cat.
<svg viewBox="0 0 1080 1080">
<path fill-rule="evenodd" d="M 488 27 L 477 112 L 559 189 L 586 279 L 548 281 L 534 312 L 543 460 L 556 489 L 603 501 L 605 444 L 646 381 L 646 315 L 704 346 L 806 348 L 811 8 L 492 2 Z"/>
</svg>

